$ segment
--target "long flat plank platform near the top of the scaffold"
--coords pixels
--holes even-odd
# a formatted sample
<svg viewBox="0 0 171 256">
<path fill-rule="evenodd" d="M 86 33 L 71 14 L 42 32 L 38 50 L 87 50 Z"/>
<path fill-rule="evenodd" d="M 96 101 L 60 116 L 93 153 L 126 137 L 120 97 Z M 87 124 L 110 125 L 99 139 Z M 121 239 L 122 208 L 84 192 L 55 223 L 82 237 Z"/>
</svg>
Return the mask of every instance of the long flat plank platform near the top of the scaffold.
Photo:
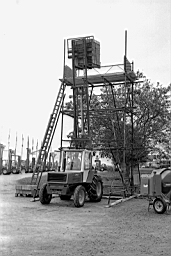
<svg viewBox="0 0 171 256">
<path fill-rule="evenodd" d="M 116 73 L 108 73 L 108 74 L 98 74 L 98 75 L 89 75 L 87 76 L 87 81 L 90 86 L 100 86 L 104 85 L 104 83 L 124 83 L 126 77 L 126 82 L 135 82 L 137 80 L 136 74 L 133 71 L 127 72 L 116 72 Z M 63 79 L 60 79 L 62 82 Z M 73 85 L 73 78 L 65 79 L 66 85 L 72 86 Z M 75 86 L 82 87 L 85 85 L 85 77 L 79 76 L 75 78 Z"/>
</svg>

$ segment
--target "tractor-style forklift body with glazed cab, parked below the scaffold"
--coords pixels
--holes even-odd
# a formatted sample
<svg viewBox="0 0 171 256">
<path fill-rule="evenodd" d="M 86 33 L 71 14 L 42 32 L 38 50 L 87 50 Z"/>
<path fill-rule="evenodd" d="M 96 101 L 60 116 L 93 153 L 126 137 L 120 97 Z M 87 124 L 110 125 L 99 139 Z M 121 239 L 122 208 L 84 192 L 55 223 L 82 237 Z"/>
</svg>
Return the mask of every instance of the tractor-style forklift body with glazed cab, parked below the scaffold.
<svg viewBox="0 0 171 256">
<path fill-rule="evenodd" d="M 103 183 L 92 167 L 91 151 L 63 150 L 60 166 L 60 172 L 48 172 L 47 182 L 40 188 L 42 204 L 49 204 L 53 194 L 58 194 L 61 200 L 73 196 L 75 207 L 84 206 L 86 195 L 91 201 L 101 201 Z"/>
</svg>

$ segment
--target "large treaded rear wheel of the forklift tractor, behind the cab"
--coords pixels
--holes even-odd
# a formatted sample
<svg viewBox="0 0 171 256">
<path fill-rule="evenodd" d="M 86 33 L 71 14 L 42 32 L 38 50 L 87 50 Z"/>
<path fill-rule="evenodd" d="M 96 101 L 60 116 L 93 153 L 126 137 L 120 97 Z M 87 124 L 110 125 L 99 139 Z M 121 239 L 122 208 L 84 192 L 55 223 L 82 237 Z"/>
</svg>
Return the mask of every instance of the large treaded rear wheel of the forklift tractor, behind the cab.
<svg viewBox="0 0 171 256">
<path fill-rule="evenodd" d="M 103 183 L 99 176 L 93 177 L 92 183 L 88 190 L 88 197 L 91 202 L 100 202 L 103 196 Z"/>
</svg>

